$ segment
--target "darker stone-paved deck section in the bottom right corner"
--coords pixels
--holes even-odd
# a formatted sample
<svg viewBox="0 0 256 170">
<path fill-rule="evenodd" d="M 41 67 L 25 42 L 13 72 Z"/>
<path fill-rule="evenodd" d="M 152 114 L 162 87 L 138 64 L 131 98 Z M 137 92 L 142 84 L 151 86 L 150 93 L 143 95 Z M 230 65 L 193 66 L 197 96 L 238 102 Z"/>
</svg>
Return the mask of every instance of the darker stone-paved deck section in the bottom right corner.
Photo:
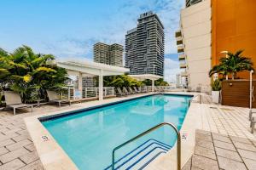
<svg viewBox="0 0 256 170">
<path fill-rule="evenodd" d="M 196 131 L 194 155 L 183 170 L 255 170 L 256 140 Z"/>
</svg>

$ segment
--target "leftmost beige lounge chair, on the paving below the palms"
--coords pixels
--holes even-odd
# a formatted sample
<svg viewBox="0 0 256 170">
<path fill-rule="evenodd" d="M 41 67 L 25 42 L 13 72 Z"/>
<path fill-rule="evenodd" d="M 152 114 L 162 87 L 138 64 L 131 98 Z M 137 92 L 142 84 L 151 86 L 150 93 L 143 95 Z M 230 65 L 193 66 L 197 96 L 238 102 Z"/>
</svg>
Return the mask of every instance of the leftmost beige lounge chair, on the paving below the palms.
<svg viewBox="0 0 256 170">
<path fill-rule="evenodd" d="M 24 104 L 21 101 L 20 94 L 13 91 L 4 91 L 4 98 L 6 107 L 10 107 L 14 109 L 14 115 L 16 115 L 16 109 L 31 107 L 31 111 L 33 111 L 33 105 Z"/>
</svg>

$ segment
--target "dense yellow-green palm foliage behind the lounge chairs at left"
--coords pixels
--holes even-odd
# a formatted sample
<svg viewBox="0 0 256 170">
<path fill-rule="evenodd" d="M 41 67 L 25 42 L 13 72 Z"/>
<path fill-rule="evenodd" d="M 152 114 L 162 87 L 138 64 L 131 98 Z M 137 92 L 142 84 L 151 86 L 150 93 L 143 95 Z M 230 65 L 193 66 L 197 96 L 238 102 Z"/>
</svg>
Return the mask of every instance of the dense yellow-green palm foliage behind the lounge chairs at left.
<svg viewBox="0 0 256 170">
<path fill-rule="evenodd" d="M 22 99 L 30 101 L 32 92 L 61 87 L 67 80 L 67 71 L 50 65 L 51 54 L 35 54 L 32 48 L 22 46 L 10 54 L 0 48 L 0 85 L 19 92 Z"/>
</svg>

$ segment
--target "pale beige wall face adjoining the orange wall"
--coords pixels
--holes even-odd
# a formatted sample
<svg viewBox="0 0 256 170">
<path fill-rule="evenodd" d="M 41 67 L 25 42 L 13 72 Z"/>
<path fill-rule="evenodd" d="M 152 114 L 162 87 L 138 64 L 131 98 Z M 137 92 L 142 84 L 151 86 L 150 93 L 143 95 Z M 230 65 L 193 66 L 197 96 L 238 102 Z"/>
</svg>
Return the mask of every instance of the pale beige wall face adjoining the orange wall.
<svg viewBox="0 0 256 170">
<path fill-rule="evenodd" d="M 184 54 L 186 55 L 189 87 L 210 89 L 211 79 L 211 1 L 197 3 L 181 11 Z"/>
</svg>

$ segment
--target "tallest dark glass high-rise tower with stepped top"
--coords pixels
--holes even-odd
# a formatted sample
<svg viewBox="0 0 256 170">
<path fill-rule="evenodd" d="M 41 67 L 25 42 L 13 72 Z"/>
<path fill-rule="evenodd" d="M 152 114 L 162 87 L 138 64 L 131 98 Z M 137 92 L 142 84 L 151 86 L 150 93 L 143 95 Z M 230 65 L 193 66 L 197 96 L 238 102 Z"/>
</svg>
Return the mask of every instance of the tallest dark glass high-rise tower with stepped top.
<svg viewBox="0 0 256 170">
<path fill-rule="evenodd" d="M 141 14 L 125 35 L 125 67 L 130 74 L 164 75 L 165 34 L 157 14 Z"/>
</svg>

